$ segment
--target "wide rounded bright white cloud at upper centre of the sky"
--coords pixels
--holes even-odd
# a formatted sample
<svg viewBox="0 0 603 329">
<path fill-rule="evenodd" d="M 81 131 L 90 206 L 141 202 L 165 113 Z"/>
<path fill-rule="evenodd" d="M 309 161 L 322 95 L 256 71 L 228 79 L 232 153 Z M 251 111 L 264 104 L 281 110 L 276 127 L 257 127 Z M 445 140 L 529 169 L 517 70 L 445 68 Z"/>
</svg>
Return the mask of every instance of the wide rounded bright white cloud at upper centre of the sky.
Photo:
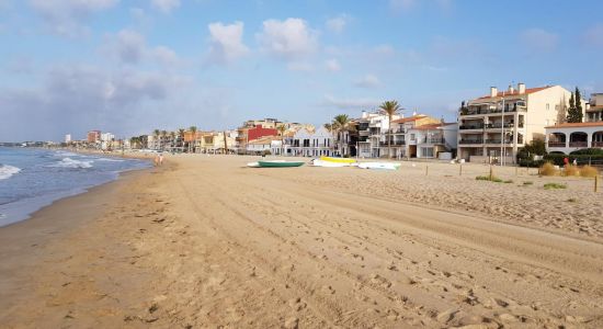
<svg viewBox="0 0 603 329">
<path fill-rule="evenodd" d="M 305 57 L 318 47 L 317 32 L 302 19 L 264 21 L 258 39 L 264 50 L 284 59 Z"/>
</svg>

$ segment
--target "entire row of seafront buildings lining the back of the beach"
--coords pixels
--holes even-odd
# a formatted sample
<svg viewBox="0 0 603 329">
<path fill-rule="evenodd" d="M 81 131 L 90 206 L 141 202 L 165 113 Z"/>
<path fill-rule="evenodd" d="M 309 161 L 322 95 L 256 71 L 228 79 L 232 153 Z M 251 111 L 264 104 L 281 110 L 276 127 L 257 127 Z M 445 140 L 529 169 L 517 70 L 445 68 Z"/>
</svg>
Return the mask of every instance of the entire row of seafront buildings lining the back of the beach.
<svg viewBox="0 0 603 329">
<path fill-rule="evenodd" d="M 576 92 L 579 95 L 578 90 Z M 515 163 L 517 151 L 533 140 L 544 140 L 548 152 L 603 148 L 603 93 L 589 101 L 573 100 L 560 86 L 505 90 L 462 102 L 456 122 L 425 114 L 362 111 L 315 127 L 277 118 L 248 120 L 239 127 L 202 132 L 195 127 L 159 131 L 116 139 L 111 133 L 90 131 L 83 140 L 65 136 L 62 146 L 115 149 L 151 149 L 167 152 L 340 156 L 391 159 L 463 159 L 470 162 Z M 573 106 L 573 107 L 572 107 Z M 578 109 L 579 122 L 568 123 L 568 111 Z"/>
</svg>

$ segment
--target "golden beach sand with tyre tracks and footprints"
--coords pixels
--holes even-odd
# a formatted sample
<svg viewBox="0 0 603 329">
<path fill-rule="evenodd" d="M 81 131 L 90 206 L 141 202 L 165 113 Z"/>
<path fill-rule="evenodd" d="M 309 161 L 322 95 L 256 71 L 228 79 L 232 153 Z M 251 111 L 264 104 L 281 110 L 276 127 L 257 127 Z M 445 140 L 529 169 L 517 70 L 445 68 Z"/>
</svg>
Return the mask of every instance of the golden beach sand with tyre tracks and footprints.
<svg viewBox="0 0 603 329">
<path fill-rule="evenodd" d="M 0 228 L 0 324 L 603 327 L 592 180 L 254 159 L 168 156 Z"/>
</svg>

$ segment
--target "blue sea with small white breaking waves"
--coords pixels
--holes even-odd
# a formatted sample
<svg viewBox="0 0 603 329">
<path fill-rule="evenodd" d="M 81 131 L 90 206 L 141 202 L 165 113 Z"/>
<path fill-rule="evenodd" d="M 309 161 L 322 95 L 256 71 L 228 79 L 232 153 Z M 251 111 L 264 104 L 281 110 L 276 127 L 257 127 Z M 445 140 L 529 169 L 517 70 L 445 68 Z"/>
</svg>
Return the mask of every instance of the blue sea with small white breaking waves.
<svg viewBox="0 0 603 329">
<path fill-rule="evenodd" d="M 145 160 L 65 150 L 0 147 L 0 227 L 27 219 L 54 201 L 144 169 Z"/>
</svg>

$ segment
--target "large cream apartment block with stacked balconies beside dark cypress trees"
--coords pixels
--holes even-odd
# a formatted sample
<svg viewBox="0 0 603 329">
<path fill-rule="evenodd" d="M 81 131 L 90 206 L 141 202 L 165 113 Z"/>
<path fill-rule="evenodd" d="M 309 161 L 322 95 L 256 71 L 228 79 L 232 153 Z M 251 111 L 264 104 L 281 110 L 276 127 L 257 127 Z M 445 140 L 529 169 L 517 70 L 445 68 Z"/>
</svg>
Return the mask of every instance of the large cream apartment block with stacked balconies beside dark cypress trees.
<svg viewBox="0 0 603 329">
<path fill-rule="evenodd" d="M 544 139 L 545 127 L 566 120 L 571 92 L 560 86 L 505 91 L 490 88 L 460 109 L 458 157 L 473 162 L 514 163 L 520 147 Z"/>
</svg>

